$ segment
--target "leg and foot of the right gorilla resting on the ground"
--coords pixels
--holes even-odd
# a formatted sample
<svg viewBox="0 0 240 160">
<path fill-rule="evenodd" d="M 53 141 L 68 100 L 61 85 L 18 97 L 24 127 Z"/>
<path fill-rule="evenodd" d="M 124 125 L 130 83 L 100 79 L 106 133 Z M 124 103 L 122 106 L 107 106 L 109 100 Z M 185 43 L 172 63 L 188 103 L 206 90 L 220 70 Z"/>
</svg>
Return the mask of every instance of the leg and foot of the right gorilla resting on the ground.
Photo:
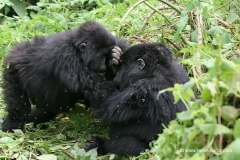
<svg viewBox="0 0 240 160">
<path fill-rule="evenodd" d="M 125 136 L 116 139 L 104 139 L 100 137 L 91 137 L 87 140 L 85 150 L 90 150 L 98 147 L 98 154 L 104 155 L 108 152 L 119 156 L 137 156 L 140 152 L 149 148 L 148 143 L 141 141 L 132 136 Z"/>
</svg>

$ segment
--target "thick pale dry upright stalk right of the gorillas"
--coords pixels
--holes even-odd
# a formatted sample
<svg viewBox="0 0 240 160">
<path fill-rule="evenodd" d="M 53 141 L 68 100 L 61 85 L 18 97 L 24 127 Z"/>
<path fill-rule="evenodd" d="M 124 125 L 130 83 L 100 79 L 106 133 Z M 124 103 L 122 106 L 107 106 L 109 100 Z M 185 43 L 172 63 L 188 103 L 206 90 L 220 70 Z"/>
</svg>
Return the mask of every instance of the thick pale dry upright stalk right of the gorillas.
<svg viewBox="0 0 240 160">
<path fill-rule="evenodd" d="M 199 10 L 199 8 L 197 8 L 197 33 L 198 33 L 198 47 L 197 47 L 197 53 L 196 53 L 196 58 L 201 61 L 201 54 L 200 54 L 200 48 L 199 45 L 203 44 L 203 37 L 202 37 L 202 26 L 203 26 L 203 17 L 202 14 Z M 195 67 L 195 70 L 197 72 L 197 75 L 200 76 L 202 75 L 202 68 L 201 66 L 197 66 Z"/>
</svg>

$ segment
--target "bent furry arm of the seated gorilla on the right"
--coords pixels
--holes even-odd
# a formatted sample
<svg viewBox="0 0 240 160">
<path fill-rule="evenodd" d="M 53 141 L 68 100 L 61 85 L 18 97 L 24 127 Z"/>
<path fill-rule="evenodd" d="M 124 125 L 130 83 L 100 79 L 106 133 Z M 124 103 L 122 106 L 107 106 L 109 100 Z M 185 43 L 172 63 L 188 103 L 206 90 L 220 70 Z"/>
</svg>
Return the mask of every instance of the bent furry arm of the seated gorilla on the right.
<svg viewBox="0 0 240 160">
<path fill-rule="evenodd" d="M 106 122 L 127 122 L 129 120 L 144 117 L 150 107 L 151 95 L 146 85 L 130 86 L 123 91 L 115 90 L 108 98 L 103 99 L 101 107 L 94 107 L 97 118 Z M 102 102 L 97 102 L 99 105 Z M 147 105 L 146 105 L 147 104 Z"/>
</svg>

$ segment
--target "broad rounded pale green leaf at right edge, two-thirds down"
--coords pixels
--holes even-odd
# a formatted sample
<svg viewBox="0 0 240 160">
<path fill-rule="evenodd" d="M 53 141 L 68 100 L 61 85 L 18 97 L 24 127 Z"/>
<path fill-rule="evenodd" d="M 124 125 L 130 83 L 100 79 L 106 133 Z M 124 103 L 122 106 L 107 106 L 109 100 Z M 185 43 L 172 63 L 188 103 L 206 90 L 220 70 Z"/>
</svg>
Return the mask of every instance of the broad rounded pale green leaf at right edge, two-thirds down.
<svg viewBox="0 0 240 160">
<path fill-rule="evenodd" d="M 237 117 L 240 115 L 239 109 L 233 107 L 233 106 L 223 106 L 222 107 L 222 118 L 226 121 L 232 121 L 237 119 Z"/>
</svg>

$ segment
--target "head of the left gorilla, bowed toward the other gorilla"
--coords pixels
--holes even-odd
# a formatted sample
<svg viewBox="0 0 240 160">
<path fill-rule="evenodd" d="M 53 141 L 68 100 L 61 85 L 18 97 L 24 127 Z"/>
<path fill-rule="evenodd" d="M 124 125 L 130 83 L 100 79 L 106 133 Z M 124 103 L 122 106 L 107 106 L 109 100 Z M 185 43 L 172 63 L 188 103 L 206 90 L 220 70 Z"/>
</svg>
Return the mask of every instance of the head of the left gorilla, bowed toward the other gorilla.
<svg viewBox="0 0 240 160">
<path fill-rule="evenodd" d="M 116 38 L 102 26 L 91 22 L 82 25 L 77 34 L 81 38 L 76 40 L 75 46 L 81 52 L 85 66 L 104 75 L 111 59 L 109 53 L 117 45 Z"/>
</svg>

